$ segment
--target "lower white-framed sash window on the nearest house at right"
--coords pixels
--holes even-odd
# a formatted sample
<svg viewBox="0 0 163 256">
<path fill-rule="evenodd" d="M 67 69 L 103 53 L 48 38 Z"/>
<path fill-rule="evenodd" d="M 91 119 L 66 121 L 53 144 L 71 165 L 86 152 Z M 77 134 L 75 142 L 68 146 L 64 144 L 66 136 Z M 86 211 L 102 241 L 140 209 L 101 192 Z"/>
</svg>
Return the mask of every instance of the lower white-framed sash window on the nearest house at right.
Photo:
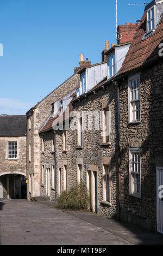
<svg viewBox="0 0 163 256">
<path fill-rule="evenodd" d="M 129 150 L 130 194 L 141 197 L 140 148 Z"/>
</svg>

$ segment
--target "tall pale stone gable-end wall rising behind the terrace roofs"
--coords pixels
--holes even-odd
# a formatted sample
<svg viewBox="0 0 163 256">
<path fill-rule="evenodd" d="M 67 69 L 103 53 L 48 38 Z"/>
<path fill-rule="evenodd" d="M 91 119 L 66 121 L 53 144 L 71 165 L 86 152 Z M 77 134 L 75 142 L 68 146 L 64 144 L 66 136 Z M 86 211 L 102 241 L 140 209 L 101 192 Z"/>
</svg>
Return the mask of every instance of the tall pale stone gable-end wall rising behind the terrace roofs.
<svg viewBox="0 0 163 256">
<path fill-rule="evenodd" d="M 40 196 L 40 181 L 41 170 L 40 165 L 42 162 L 42 155 L 40 151 L 40 135 L 39 130 L 46 122 L 49 115 L 51 115 L 51 104 L 57 102 L 60 98 L 65 97 L 68 93 L 73 91 L 79 85 L 80 76 L 74 74 L 70 79 L 66 80 L 62 85 L 57 87 L 52 93 L 50 93 L 45 99 L 31 109 L 27 113 L 28 127 L 27 127 L 27 171 L 28 180 L 29 174 L 34 174 L 34 193 L 33 196 Z M 31 129 L 29 130 L 29 117 L 31 116 Z M 29 161 L 29 144 L 31 144 L 31 160 Z M 33 186 L 33 184 L 32 184 Z M 29 191 L 29 183 L 28 183 Z M 28 193 L 28 200 L 32 197 Z"/>
</svg>

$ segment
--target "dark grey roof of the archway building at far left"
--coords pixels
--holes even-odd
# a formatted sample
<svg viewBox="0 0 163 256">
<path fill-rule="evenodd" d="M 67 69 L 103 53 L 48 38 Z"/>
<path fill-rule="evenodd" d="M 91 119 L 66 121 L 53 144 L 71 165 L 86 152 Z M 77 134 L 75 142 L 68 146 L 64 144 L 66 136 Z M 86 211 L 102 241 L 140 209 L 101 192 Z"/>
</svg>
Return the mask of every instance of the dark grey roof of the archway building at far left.
<svg viewBox="0 0 163 256">
<path fill-rule="evenodd" d="M 26 136 L 26 116 L 0 115 L 0 136 Z"/>
</svg>

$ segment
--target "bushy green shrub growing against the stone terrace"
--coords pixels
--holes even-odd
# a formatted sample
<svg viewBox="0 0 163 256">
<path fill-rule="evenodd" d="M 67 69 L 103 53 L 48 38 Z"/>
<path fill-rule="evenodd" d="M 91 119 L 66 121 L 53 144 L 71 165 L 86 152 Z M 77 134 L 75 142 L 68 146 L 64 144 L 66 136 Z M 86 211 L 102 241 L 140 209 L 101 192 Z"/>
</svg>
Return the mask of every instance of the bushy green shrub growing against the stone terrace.
<svg viewBox="0 0 163 256">
<path fill-rule="evenodd" d="M 57 198 L 57 207 L 61 210 L 87 210 L 90 198 L 85 184 L 74 184 Z"/>
</svg>

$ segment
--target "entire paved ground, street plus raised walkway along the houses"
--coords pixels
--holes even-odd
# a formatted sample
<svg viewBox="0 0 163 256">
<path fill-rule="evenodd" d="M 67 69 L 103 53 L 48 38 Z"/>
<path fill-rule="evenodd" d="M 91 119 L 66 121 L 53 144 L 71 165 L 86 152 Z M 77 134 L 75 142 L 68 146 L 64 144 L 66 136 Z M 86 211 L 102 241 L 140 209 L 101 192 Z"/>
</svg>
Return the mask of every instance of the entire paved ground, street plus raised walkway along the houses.
<svg viewBox="0 0 163 256">
<path fill-rule="evenodd" d="M 40 198 L 0 203 L 0 245 L 163 245 L 163 235 Z"/>
</svg>

